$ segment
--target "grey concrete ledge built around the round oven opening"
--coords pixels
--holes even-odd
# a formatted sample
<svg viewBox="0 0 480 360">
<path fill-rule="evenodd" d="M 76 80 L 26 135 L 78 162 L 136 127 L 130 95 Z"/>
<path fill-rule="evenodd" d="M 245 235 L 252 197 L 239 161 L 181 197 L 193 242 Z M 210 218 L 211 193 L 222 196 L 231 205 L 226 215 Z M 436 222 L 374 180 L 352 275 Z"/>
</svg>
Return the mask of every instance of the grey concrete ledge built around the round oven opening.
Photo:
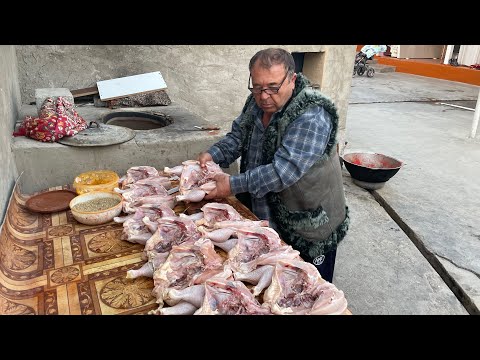
<svg viewBox="0 0 480 360">
<path fill-rule="evenodd" d="M 99 121 L 109 112 L 156 111 L 170 115 L 174 123 L 159 129 L 135 130 L 136 136 L 132 140 L 109 146 L 74 147 L 42 143 L 23 136 L 14 137 L 11 149 L 18 173 L 25 171 L 28 174 L 23 185 L 26 193 L 70 184 L 75 176 L 90 170 L 109 169 L 120 176 L 132 166 L 149 165 L 163 170 L 165 166 L 172 167 L 182 161 L 196 159 L 200 152 L 207 150 L 228 131 L 184 131 L 195 125 L 212 124 L 177 105 L 114 110 L 78 107 L 76 110 L 87 122 Z M 32 105 L 24 105 L 21 109 L 22 116 L 32 112 L 35 112 L 35 106 Z M 238 165 L 234 163 L 225 171 L 238 172 Z"/>
</svg>

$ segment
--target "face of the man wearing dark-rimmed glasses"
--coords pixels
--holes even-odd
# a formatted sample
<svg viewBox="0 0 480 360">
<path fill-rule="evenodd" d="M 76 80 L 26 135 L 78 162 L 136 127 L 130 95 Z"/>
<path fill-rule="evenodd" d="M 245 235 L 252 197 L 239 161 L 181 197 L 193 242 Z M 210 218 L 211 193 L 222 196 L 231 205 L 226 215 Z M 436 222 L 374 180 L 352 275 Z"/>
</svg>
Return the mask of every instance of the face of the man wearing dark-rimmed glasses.
<svg viewBox="0 0 480 360">
<path fill-rule="evenodd" d="M 259 66 L 258 62 L 253 66 L 251 71 L 253 96 L 257 105 L 265 113 L 277 112 L 292 96 L 297 75 L 294 74 L 291 79 L 286 75 L 287 71 L 283 64 L 273 65 L 270 69 Z M 266 91 L 255 93 L 267 89 L 278 89 L 278 93 L 268 94 Z"/>
</svg>

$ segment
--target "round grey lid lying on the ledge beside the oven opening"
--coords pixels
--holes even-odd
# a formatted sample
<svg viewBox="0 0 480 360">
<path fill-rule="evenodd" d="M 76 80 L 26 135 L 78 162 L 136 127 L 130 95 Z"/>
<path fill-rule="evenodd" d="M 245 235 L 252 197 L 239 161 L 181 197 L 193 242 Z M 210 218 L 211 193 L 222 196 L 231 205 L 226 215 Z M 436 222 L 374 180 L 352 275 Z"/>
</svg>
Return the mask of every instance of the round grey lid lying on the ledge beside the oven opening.
<svg viewBox="0 0 480 360">
<path fill-rule="evenodd" d="M 92 126 L 92 123 L 97 126 Z M 57 142 L 69 146 L 108 146 L 121 144 L 135 137 L 135 131 L 123 126 L 98 124 L 90 126 L 74 136 L 65 136 Z"/>
</svg>

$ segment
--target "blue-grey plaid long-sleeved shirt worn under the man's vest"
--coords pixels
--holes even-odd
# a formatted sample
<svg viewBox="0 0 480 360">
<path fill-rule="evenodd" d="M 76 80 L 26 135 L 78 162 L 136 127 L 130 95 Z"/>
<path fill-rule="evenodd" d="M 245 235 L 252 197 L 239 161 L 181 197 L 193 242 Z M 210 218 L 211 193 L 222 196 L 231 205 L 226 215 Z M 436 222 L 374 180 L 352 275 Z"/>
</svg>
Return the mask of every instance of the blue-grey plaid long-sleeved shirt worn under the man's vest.
<svg viewBox="0 0 480 360">
<path fill-rule="evenodd" d="M 297 182 L 310 167 L 323 155 L 332 130 L 330 114 L 322 107 L 312 106 L 292 122 L 283 137 L 281 146 L 274 155 L 273 162 L 262 165 L 262 146 L 265 129 L 262 124 L 263 111 L 255 105 L 256 118 L 250 148 L 248 150 L 247 171 L 230 177 L 233 194 L 249 192 L 252 197 L 252 211 L 259 218 L 270 219 L 270 209 L 266 194 L 280 192 Z M 278 116 L 278 112 L 273 114 Z M 240 154 L 241 115 L 232 124 L 232 130 L 219 143 L 227 145 L 228 153 L 223 153 L 214 144 L 208 152 L 213 161 L 228 167 Z"/>
</svg>

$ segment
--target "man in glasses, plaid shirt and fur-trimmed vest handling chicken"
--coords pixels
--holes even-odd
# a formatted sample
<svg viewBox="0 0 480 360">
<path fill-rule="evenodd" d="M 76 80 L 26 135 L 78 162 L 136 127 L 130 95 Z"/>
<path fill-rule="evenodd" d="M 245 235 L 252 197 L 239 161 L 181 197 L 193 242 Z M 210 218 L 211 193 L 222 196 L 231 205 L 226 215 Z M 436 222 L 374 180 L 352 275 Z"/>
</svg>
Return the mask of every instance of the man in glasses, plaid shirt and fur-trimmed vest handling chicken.
<svg viewBox="0 0 480 360">
<path fill-rule="evenodd" d="M 228 167 L 241 157 L 240 174 L 216 175 L 205 199 L 236 195 L 283 240 L 332 282 L 338 243 L 349 225 L 336 135 L 335 105 L 295 73 L 292 55 L 256 53 L 242 113 L 231 131 L 198 157 Z"/>
</svg>

